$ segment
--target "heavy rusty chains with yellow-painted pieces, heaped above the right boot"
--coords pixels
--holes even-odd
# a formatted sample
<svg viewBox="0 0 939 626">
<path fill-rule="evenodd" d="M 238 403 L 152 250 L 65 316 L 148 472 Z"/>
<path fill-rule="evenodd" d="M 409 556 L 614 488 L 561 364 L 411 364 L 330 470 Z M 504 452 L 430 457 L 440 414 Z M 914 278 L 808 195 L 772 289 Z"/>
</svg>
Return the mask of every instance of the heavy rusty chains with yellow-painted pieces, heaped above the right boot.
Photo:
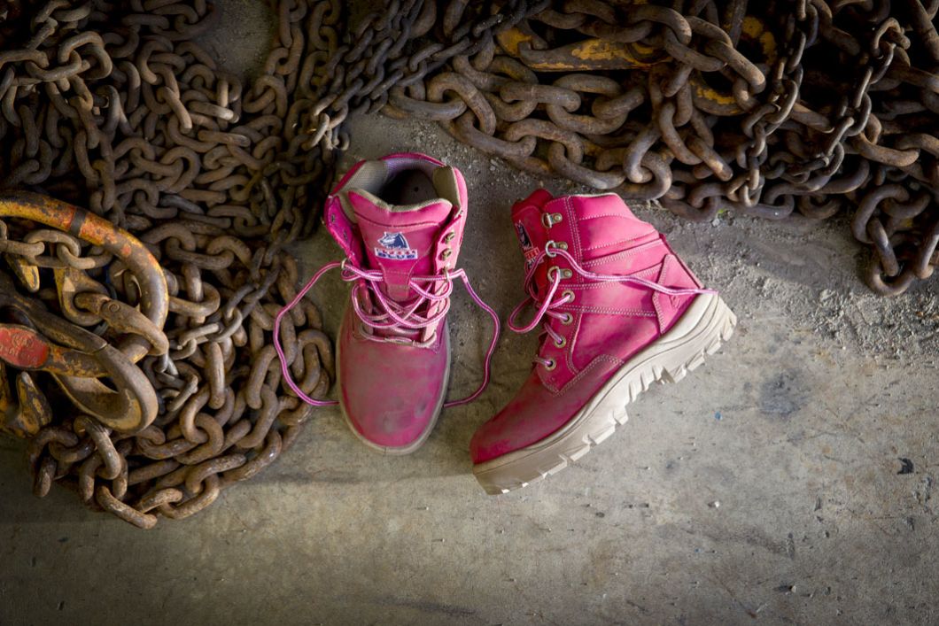
<svg viewBox="0 0 939 626">
<path fill-rule="evenodd" d="M 899 294 L 939 262 L 937 9 L 395 0 L 349 31 L 310 125 L 438 120 L 524 170 L 692 220 L 853 210 L 870 287 Z"/>
</svg>

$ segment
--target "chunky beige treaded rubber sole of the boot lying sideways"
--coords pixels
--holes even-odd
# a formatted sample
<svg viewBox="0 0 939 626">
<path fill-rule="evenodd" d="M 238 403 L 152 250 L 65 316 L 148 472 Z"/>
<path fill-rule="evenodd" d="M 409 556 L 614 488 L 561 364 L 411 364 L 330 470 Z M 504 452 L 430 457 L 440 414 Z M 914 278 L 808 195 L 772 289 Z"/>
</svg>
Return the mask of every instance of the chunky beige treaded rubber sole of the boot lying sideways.
<svg viewBox="0 0 939 626">
<path fill-rule="evenodd" d="M 731 338 L 736 316 L 716 294 L 702 294 L 678 323 L 629 359 L 557 433 L 473 467 L 491 496 L 505 494 L 556 474 L 626 423 L 626 405 L 655 382 L 676 382 Z"/>
</svg>

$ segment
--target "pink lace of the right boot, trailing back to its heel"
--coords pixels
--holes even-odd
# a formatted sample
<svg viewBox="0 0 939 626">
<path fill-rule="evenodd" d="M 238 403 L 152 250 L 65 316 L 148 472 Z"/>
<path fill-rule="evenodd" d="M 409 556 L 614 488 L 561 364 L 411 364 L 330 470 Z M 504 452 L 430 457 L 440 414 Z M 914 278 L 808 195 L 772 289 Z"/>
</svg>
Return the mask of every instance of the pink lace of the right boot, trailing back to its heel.
<svg viewBox="0 0 939 626">
<path fill-rule="evenodd" d="M 553 246 L 552 244 L 553 244 L 552 241 L 547 242 L 547 245 L 545 246 L 545 250 L 542 251 L 540 254 L 538 254 L 537 257 L 535 257 L 534 263 L 531 264 L 531 267 L 529 267 L 528 273 L 525 275 L 525 293 L 528 295 L 528 297 L 522 300 L 522 302 L 520 302 L 518 306 L 516 306 L 516 308 L 509 315 L 509 319 L 507 321 L 507 326 L 513 332 L 517 332 L 517 333 L 529 332 L 532 328 L 537 326 L 538 323 L 541 322 L 542 319 L 544 319 L 545 317 L 551 317 L 551 318 L 557 319 L 561 321 L 562 324 L 570 324 L 573 319 L 573 316 L 571 315 L 571 313 L 567 313 L 567 312 L 560 313 L 558 311 L 555 311 L 555 309 L 562 307 L 564 304 L 567 304 L 568 302 L 571 302 L 574 299 L 574 292 L 568 291 L 568 290 L 565 290 L 564 292 L 562 292 L 561 298 L 554 299 L 555 295 L 558 292 L 558 287 L 561 285 L 561 281 L 562 281 L 560 268 L 555 267 L 554 269 L 556 269 L 557 271 L 554 271 L 554 272 L 552 272 L 550 269 L 548 270 L 548 279 L 551 281 L 551 286 L 548 288 L 544 299 L 539 300 L 537 295 L 534 293 L 534 288 L 533 288 L 534 274 L 537 271 L 538 267 L 541 266 L 541 264 L 545 261 L 546 257 L 553 258 L 555 256 L 561 256 L 563 259 L 565 259 L 568 263 L 571 264 L 571 267 L 574 269 L 574 271 L 577 272 L 577 274 L 579 274 L 580 276 L 590 281 L 627 282 L 627 283 L 632 283 L 632 284 L 638 284 L 648 289 L 652 289 L 653 291 L 657 291 L 661 294 L 666 294 L 668 296 L 692 296 L 692 295 L 697 295 L 697 294 L 716 294 L 717 293 L 713 289 L 697 289 L 697 288 L 673 289 L 671 287 L 666 287 L 661 284 L 658 284 L 657 282 L 649 281 L 644 278 L 639 278 L 639 276 L 629 275 L 629 274 L 595 274 L 592 271 L 581 267 L 581 265 L 577 263 L 577 260 L 573 256 L 571 256 L 570 253 L 565 252 L 562 249 Z M 521 313 L 521 311 L 525 307 L 534 303 L 538 303 L 539 305 L 538 311 L 537 313 L 535 313 L 534 318 L 532 318 L 531 322 L 529 322 L 525 326 L 517 326 L 516 317 L 518 316 L 518 313 Z M 556 345 L 560 346 L 562 342 L 564 341 L 564 338 L 560 334 L 558 334 L 554 330 L 554 328 L 551 328 L 549 324 L 545 323 L 542 326 L 542 330 L 551 338 L 551 340 Z M 532 360 L 535 363 L 540 363 L 548 368 L 554 366 L 554 362 L 551 359 L 542 359 L 541 357 L 536 356 Z"/>
</svg>

